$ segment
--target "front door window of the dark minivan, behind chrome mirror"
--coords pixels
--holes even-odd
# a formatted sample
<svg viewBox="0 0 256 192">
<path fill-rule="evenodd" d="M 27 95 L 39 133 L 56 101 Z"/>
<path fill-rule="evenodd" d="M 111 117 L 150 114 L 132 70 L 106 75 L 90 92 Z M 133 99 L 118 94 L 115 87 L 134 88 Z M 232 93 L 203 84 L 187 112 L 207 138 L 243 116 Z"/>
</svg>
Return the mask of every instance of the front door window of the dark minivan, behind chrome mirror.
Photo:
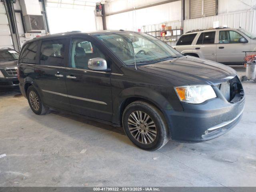
<svg viewBox="0 0 256 192">
<path fill-rule="evenodd" d="M 88 69 L 88 60 L 97 57 L 106 60 L 104 54 L 90 41 L 80 38 L 72 39 L 70 67 Z"/>
</svg>

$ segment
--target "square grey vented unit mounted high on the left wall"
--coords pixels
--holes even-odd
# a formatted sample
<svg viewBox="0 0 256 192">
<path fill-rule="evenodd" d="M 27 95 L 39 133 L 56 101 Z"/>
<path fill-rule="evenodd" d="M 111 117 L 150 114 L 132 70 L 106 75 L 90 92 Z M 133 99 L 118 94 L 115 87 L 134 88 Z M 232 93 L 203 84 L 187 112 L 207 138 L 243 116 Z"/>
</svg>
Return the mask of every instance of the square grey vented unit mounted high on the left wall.
<svg viewBox="0 0 256 192">
<path fill-rule="evenodd" d="M 25 15 L 24 20 L 28 32 L 45 30 L 44 18 L 42 15 Z"/>
</svg>

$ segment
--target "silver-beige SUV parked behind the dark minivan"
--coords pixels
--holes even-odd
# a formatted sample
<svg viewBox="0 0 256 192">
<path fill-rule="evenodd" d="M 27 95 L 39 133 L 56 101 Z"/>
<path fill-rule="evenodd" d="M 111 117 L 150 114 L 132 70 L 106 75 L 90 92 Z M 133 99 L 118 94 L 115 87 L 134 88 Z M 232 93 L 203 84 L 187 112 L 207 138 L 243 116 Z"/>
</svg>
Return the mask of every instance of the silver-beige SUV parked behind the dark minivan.
<svg viewBox="0 0 256 192">
<path fill-rule="evenodd" d="M 242 28 L 191 31 L 180 37 L 175 49 L 185 55 L 239 65 L 244 60 L 243 51 L 256 52 L 256 35 Z"/>
</svg>

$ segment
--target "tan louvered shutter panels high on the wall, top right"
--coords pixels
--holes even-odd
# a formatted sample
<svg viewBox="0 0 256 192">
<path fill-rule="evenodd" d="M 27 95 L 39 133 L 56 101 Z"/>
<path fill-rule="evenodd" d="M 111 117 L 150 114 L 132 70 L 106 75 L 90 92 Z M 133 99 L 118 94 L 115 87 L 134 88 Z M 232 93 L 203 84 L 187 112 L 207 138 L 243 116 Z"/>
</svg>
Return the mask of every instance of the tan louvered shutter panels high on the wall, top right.
<svg viewBox="0 0 256 192">
<path fill-rule="evenodd" d="M 191 19 L 216 15 L 216 0 L 191 0 Z"/>
</svg>

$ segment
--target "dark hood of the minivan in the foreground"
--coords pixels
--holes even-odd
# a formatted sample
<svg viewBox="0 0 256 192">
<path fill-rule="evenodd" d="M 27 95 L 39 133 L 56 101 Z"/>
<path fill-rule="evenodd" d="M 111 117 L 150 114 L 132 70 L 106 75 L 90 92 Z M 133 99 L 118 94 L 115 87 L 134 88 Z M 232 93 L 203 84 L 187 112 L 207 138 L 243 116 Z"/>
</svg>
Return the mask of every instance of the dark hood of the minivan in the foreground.
<svg viewBox="0 0 256 192">
<path fill-rule="evenodd" d="M 138 66 L 138 69 L 170 78 L 174 86 L 216 85 L 236 76 L 236 71 L 228 66 L 192 56 Z"/>
</svg>

